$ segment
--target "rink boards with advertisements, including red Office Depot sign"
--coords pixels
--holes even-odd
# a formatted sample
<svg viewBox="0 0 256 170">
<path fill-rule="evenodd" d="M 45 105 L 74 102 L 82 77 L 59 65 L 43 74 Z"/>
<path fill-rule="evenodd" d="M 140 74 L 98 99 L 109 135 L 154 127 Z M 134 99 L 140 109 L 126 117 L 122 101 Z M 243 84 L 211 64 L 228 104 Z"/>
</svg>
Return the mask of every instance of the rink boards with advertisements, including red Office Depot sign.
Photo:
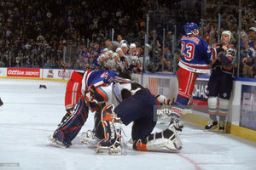
<svg viewBox="0 0 256 170">
<path fill-rule="evenodd" d="M 70 78 L 73 70 L 0 68 L 0 78 L 20 78 L 64 81 Z M 152 94 L 163 94 L 170 99 L 177 96 L 177 77 L 168 73 L 132 74 L 132 79 L 148 88 Z M 193 99 L 183 119 L 206 125 L 207 82 L 209 77 L 199 77 L 195 82 Z M 256 142 L 256 80 L 235 78 L 231 95 L 230 112 L 227 117 L 226 133 Z"/>
</svg>

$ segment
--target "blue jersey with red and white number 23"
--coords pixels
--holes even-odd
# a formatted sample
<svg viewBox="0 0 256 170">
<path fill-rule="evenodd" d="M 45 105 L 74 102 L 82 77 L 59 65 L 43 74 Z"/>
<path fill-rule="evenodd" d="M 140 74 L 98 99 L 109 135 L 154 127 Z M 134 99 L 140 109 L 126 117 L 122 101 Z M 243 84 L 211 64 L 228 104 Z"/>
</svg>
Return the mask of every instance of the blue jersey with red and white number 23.
<svg viewBox="0 0 256 170">
<path fill-rule="evenodd" d="M 183 36 L 181 38 L 182 59 L 178 65 L 183 69 L 196 73 L 210 73 L 210 60 L 217 55 L 216 48 L 212 48 L 201 37 Z"/>
</svg>

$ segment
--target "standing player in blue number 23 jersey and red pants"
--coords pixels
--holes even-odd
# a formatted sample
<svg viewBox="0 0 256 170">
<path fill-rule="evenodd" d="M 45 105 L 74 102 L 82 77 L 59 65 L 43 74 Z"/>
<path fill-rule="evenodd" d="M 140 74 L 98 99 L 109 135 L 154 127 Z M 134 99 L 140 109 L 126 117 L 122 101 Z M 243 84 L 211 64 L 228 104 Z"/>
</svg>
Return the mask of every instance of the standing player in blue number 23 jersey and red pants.
<svg viewBox="0 0 256 170">
<path fill-rule="evenodd" d="M 184 26 L 185 35 L 181 38 L 182 59 L 177 70 L 178 94 L 171 110 L 171 124 L 181 131 L 183 125 L 179 123 L 183 109 L 189 104 L 195 87 L 198 73 L 210 71 L 209 62 L 215 59 L 216 48 L 211 48 L 207 42 L 198 37 L 198 25 L 191 22 Z"/>
</svg>

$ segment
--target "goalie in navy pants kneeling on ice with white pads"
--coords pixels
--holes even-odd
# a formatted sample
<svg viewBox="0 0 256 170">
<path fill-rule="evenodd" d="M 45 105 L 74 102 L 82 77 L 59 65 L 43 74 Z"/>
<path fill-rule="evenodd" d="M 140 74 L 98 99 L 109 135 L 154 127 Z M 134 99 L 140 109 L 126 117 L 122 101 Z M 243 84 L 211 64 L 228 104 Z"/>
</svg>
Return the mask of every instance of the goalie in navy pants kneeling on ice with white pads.
<svg viewBox="0 0 256 170">
<path fill-rule="evenodd" d="M 113 104 L 106 105 L 102 110 L 101 122 L 96 123 L 99 126 L 95 127 L 103 129 L 95 131 L 96 136 L 102 139 L 97 144 L 97 153 L 120 153 L 122 148 L 120 125 L 128 125 L 131 122 L 133 122 L 131 138 L 134 150 L 158 150 L 163 147 L 169 150 L 182 149 L 182 142 L 173 124 L 160 133 L 152 133 L 156 125 L 154 106 L 158 105 L 158 102 L 148 88 L 143 88 L 137 82 L 119 82 L 112 85 L 113 93 L 121 94 L 119 96 L 121 102 L 116 107 Z M 93 96 L 94 99 L 101 100 L 98 93 Z M 111 94 L 108 96 L 110 97 Z"/>
</svg>

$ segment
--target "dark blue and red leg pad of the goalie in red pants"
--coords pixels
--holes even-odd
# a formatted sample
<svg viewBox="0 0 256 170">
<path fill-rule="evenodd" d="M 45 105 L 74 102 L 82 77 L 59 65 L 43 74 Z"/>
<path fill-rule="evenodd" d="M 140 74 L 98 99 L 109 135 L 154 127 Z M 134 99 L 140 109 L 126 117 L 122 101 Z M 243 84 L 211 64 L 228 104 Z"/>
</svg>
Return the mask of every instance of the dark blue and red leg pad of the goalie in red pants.
<svg viewBox="0 0 256 170">
<path fill-rule="evenodd" d="M 70 146 L 71 141 L 77 136 L 84 122 L 86 122 L 88 111 L 84 99 L 79 99 L 79 103 L 71 111 L 71 116 L 61 122 L 60 127 L 55 130 L 53 138 L 58 143 L 62 143 L 67 147 Z"/>
</svg>

